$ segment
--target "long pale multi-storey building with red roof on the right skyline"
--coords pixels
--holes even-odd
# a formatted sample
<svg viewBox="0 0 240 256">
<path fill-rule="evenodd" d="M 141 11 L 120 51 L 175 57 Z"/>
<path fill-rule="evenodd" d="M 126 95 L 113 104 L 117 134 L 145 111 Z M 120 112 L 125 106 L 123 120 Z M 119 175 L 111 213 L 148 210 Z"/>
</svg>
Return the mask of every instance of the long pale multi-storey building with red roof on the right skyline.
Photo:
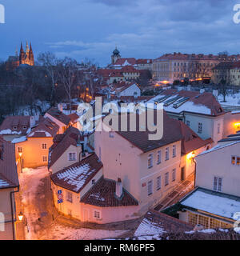
<svg viewBox="0 0 240 256">
<path fill-rule="evenodd" d="M 156 81 L 167 81 L 189 78 L 201 80 L 212 77 L 212 69 L 220 62 L 237 61 L 239 56 L 213 54 L 164 54 L 154 59 L 153 78 Z"/>
</svg>

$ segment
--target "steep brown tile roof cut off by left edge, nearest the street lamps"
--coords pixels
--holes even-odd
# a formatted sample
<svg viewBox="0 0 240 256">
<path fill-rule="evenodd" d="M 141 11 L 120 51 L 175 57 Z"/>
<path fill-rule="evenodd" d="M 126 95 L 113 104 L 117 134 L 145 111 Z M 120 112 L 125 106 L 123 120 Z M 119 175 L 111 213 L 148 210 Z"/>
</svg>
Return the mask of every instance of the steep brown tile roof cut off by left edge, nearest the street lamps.
<svg viewBox="0 0 240 256">
<path fill-rule="evenodd" d="M 14 144 L 0 136 L 0 189 L 17 186 L 19 182 Z"/>
</svg>

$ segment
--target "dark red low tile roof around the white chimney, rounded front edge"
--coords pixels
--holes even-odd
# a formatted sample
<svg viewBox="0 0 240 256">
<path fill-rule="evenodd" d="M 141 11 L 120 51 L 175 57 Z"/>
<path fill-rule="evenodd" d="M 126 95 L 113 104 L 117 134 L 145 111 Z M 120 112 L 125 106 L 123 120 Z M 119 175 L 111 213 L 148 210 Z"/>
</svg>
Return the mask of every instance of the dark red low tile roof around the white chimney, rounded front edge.
<svg viewBox="0 0 240 256">
<path fill-rule="evenodd" d="M 115 192 L 116 182 L 102 177 L 80 202 L 99 207 L 138 206 L 138 201 L 124 188 L 122 198 L 117 198 Z"/>
</svg>

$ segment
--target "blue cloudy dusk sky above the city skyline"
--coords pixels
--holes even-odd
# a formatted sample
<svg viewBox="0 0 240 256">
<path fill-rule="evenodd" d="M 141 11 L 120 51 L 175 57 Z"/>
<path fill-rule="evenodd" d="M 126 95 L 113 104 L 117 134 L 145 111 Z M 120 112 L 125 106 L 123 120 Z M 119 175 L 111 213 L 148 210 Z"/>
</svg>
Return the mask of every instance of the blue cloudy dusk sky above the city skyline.
<svg viewBox="0 0 240 256">
<path fill-rule="evenodd" d="M 240 0 L 0 0 L 0 59 L 20 42 L 34 54 L 94 59 L 104 66 L 118 46 L 122 57 L 158 58 L 170 52 L 240 53 Z"/>
</svg>

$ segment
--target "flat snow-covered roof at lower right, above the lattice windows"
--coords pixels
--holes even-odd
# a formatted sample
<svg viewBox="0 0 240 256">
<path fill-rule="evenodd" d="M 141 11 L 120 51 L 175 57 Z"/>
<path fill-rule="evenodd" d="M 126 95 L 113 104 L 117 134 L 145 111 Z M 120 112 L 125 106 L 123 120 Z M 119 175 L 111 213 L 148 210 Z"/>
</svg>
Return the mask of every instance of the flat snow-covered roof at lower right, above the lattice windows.
<svg viewBox="0 0 240 256">
<path fill-rule="evenodd" d="M 234 214 L 240 212 L 240 198 L 203 188 L 194 190 L 180 203 L 182 206 L 230 219 L 234 219 Z"/>
</svg>

